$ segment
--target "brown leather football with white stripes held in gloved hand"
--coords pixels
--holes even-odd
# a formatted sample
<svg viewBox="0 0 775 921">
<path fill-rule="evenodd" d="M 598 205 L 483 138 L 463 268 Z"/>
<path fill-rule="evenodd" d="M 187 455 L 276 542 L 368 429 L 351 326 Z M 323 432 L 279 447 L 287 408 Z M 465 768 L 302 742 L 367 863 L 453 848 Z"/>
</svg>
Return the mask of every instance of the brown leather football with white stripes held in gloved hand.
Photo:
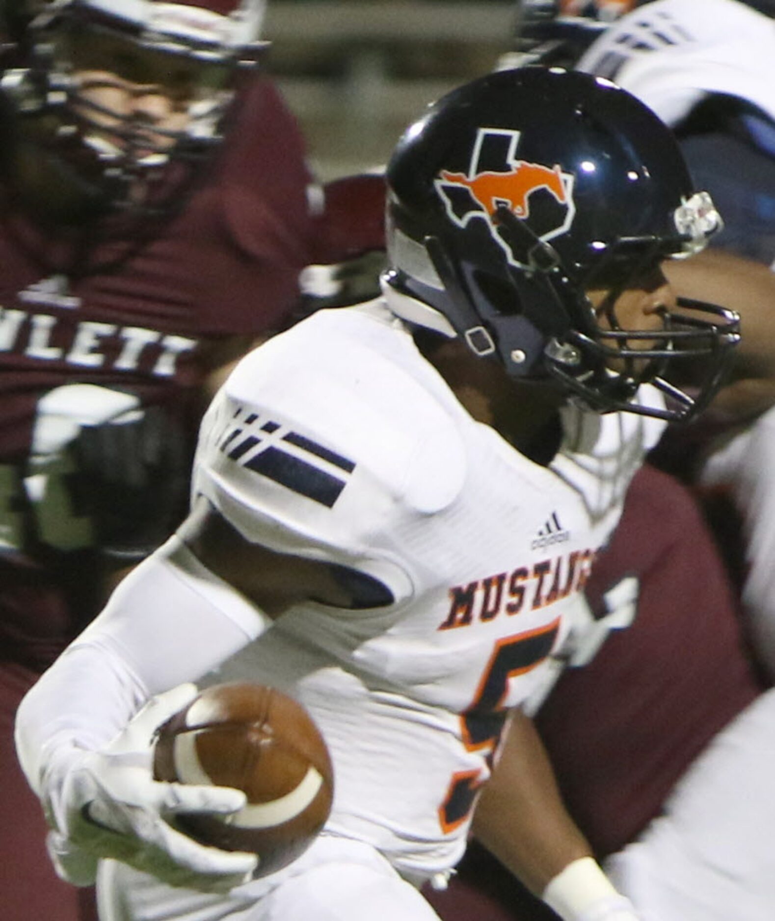
<svg viewBox="0 0 775 921">
<path fill-rule="evenodd" d="M 334 775 L 310 715 L 275 688 L 251 682 L 206 688 L 159 727 L 157 780 L 236 787 L 247 804 L 232 815 L 182 815 L 178 826 L 205 845 L 258 855 L 256 876 L 288 866 L 323 828 Z"/>
</svg>

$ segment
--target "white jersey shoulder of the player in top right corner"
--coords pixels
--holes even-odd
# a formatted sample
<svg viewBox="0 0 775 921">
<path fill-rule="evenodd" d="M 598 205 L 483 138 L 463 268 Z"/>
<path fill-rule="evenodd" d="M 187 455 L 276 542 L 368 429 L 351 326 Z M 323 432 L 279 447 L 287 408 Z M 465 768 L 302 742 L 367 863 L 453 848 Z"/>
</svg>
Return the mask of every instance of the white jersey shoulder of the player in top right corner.
<svg viewBox="0 0 775 921">
<path fill-rule="evenodd" d="M 729 94 L 775 119 L 775 22 L 736 0 L 656 0 L 621 17 L 581 57 L 667 124 L 707 94 Z"/>
</svg>

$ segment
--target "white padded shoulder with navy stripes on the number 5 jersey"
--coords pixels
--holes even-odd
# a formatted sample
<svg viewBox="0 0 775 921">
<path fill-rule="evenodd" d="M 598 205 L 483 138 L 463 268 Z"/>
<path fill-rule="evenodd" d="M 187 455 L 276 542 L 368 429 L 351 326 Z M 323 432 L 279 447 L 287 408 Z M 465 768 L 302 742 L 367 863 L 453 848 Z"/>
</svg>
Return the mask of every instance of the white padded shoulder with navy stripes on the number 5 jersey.
<svg viewBox="0 0 775 921">
<path fill-rule="evenodd" d="M 379 301 L 320 311 L 229 376 L 203 423 L 201 491 L 217 484 L 287 529 L 352 545 L 458 495 L 465 456 L 453 403 Z"/>
</svg>

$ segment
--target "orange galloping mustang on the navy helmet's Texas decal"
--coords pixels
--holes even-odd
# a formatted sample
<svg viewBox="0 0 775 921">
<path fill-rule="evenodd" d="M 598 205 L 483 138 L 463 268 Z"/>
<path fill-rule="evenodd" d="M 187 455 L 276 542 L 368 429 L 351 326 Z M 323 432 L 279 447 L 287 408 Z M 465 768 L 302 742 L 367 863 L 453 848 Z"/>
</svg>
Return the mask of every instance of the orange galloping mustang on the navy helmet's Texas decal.
<svg viewBox="0 0 775 921">
<path fill-rule="evenodd" d="M 441 179 L 468 189 L 488 215 L 506 204 L 523 219 L 530 215 L 530 195 L 538 189 L 551 192 L 560 204 L 569 204 L 568 190 L 558 166 L 549 169 L 537 163 L 517 160 L 511 172 L 481 172 L 469 179 L 464 173 L 441 170 Z"/>
</svg>

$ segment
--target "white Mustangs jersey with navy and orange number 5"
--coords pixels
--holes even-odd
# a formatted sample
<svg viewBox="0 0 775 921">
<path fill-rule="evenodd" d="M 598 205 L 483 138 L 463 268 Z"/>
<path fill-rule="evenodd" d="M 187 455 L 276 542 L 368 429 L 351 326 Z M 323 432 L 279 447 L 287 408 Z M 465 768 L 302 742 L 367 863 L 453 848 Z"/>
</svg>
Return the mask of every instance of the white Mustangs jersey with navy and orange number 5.
<svg viewBox="0 0 775 921">
<path fill-rule="evenodd" d="M 393 599 L 299 604 L 212 680 L 299 698 L 335 765 L 328 831 L 406 873 L 461 856 L 506 711 L 541 681 L 663 428 L 577 407 L 563 425 L 549 467 L 523 457 L 379 300 L 262 345 L 205 417 L 196 493 L 250 541 L 346 565 Z"/>
</svg>

